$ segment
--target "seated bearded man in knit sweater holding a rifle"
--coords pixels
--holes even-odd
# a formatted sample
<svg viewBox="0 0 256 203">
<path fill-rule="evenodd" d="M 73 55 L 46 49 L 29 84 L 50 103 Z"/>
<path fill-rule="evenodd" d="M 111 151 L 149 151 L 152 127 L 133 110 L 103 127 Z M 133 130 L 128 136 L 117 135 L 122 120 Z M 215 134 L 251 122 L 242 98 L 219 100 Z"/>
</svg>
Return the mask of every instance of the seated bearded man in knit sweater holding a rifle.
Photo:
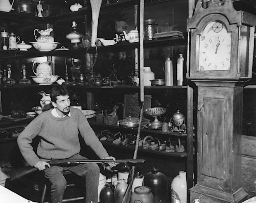
<svg viewBox="0 0 256 203">
<path fill-rule="evenodd" d="M 71 171 L 85 177 L 86 203 L 98 202 L 98 184 L 100 169 L 95 163 L 78 166 L 50 166 L 50 159 L 87 159 L 81 155 L 78 133 L 86 145 L 90 146 L 100 159 L 113 159 L 102 146 L 88 124 L 82 111 L 70 108 L 69 91 L 65 86 L 55 86 L 50 92 L 52 105 L 49 111 L 40 113 L 19 135 L 17 142 L 21 154 L 31 166 L 44 171 L 51 183 L 52 203 L 62 203 L 66 180 L 62 171 Z M 37 155 L 31 146 L 33 138 L 40 136 Z M 115 164 L 109 164 L 115 166 Z M 48 166 L 48 167 L 45 167 Z"/>
</svg>

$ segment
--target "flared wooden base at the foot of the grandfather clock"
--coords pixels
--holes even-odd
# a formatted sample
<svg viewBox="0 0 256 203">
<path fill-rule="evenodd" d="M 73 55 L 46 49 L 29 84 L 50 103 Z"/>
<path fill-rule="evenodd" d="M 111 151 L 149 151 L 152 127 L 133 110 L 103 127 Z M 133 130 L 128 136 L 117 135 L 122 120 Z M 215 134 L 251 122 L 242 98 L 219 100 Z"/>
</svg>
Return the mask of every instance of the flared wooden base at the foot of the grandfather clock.
<svg viewBox="0 0 256 203">
<path fill-rule="evenodd" d="M 190 202 L 199 198 L 201 203 L 239 203 L 245 201 L 247 196 L 243 188 L 238 189 L 233 194 L 202 185 L 195 185 L 190 189 Z"/>
</svg>

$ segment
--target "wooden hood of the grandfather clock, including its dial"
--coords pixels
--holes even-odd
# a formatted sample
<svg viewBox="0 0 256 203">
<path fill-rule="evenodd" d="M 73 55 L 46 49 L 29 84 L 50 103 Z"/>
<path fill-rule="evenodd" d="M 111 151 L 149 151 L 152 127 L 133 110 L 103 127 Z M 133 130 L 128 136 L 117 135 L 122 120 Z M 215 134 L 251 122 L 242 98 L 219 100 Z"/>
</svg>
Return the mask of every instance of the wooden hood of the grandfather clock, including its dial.
<svg viewBox="0 0 256 203">
<path fill-rule="evenodd" d="M 236 11 L 231 0 L 197 2 L 187 19 L 191 33 L 189 79 L 247 80 L 251 78 L 256 17 Z"/>
</svg>

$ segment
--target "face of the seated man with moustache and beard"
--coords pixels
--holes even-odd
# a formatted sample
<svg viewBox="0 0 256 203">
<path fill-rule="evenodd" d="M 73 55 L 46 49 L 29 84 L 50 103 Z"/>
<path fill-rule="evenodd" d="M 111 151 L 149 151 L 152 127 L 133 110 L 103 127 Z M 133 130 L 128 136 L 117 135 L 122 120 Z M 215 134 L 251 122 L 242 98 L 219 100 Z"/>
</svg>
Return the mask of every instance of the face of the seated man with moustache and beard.
<svg viewBox="0 0 256 203">
<path fill-rule="evenodd" d="M 57 96 L 56 103 L 52 102 L 52 105 L 56 107 L 57 113 L 59 116 L 64 116 L 69 113 L 70 110 L 70 99 L 68 95 Z"/>
</svg>

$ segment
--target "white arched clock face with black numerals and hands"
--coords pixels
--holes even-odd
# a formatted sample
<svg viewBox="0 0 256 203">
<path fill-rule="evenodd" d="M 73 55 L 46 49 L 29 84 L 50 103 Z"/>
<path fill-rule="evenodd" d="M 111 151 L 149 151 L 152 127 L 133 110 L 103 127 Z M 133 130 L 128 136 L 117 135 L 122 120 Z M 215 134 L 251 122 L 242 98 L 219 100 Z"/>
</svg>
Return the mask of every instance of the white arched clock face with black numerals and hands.
<svg viewBox="0 0 256 203">
<path fill-rule="evenodd" d="M 211 21 L 199 36 L 199 71 L 229 70 L 231 33 L 220 21 Z"/>
</svg>

